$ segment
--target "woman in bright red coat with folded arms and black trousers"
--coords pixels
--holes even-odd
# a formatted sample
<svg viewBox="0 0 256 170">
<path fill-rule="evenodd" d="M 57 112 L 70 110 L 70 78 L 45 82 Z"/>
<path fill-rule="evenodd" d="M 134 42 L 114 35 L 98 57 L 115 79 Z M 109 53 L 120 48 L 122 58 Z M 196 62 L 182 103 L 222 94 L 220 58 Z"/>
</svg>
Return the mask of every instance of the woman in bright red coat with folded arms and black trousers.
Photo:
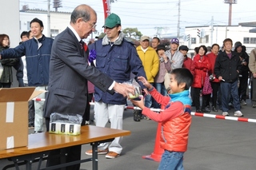
<svg viewBox="0 0 256 170">
<path fill-rule="evenodd" d="M 200 92 L 205 83 L 206 73 L 210 72 L 211 69 L 206 53 L 206 45 L 201 45 L 198 47 L 198 54 L 194 56 L 194 82 L 192 87 L 194 87 L 194 105 L 197 113 L 210 113 L 210 110 L 206 108 L 206 102 L 210 94 L 202 94 L 202 108 L 200 108 Z"/>
</svg>

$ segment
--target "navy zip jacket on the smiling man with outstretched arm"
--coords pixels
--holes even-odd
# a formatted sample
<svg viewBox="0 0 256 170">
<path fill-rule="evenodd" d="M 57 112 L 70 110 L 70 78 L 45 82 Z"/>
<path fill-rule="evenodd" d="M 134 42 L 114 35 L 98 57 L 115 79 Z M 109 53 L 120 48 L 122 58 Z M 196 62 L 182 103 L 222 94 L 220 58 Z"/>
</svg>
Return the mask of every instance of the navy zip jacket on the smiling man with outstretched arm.
<svg viewBox="0 0 256 170">
<path fill-rule="evenodd" d="M 42 45 L 38 48 L 38 42 Z M 32 38 L 14 49 L 2 51 L 2 58 L 22 57 L 26 55 L 26 69 L 29 86 L 48 85 L 49 82 L 49 63 L 51 46 L 54 42 L 52 38 Z"/>
</svg>

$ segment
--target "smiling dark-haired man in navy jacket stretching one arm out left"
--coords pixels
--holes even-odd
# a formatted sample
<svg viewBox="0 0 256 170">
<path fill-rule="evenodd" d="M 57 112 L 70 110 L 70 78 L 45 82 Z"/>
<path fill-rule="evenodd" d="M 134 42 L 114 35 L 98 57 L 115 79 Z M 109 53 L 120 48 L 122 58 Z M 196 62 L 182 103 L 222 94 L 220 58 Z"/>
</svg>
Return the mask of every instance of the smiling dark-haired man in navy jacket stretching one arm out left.
<svg viewBox="0 0 256 170">
<path fill-rule="evenodd" d="M 22 42 L 21 45 L 14 49 L 6 49 L 0 55 L 0 58 L 22 57 L 26 55 L 28 85 L 35 86 L 35 90 L 47 90 L 49 82 L 50 52 L 54 39 L 46 38 L 42 34 L 43 29 L 42 21 L 34 18 L 30 22 L 30 30 L 34 38 Z M 40 94 L 38 98 L 44 99 L 45 93 Z M 34 132 L 43 131 L 43 105 L 44 101 L 34 102 Z"/>
</svg>

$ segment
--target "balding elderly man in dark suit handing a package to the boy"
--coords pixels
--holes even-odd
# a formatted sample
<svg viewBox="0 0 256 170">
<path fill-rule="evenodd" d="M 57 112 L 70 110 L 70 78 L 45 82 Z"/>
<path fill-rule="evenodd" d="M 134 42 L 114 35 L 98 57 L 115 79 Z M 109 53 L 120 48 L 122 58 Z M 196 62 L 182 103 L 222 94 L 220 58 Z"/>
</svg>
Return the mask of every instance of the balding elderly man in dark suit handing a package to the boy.
<svg viewBox="0 0 256 170">
<path fill-rule="evenodd" d="M 77 6 L 71 14 L 70 26 L 54 39 L 50 57 L 49 92 L 46 94 L 45 117 L 49 131 L 51 113 L 85 113 L 87 100 L 87 80 L 103 92 L 121 93 L 127 97 L 134 94 L 130 85 L 115 83 L 106 74 L 88 65 L 88 52 L 85 52 L 82 39 L 95 30 L 97 14 L 86 5 Z M 81 146 L 66 148 L 66 162 L 81 159 Z M 58 155 L 59 150 L 50 153 Z M 47 166 L 59 164 L 60 159 L 50 159 Z M 66 169 L 79 169 L 80 164 Z"/>
</svg>

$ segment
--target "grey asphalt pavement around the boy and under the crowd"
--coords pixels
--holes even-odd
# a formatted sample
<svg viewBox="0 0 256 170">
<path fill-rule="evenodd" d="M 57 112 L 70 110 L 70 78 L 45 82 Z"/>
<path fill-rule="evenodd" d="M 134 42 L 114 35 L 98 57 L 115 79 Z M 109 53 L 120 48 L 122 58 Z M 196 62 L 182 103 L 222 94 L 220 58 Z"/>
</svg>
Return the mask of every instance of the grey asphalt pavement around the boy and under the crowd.
<svg viewBox="0 0 256 170">
<path fill-rule="evenodd" d="M 256 119 L 256 109 L 250 100 L 242 106 L 244 118 Z M 130 105 L 130 103 L 129 103 Z M 193 109 L 192 111 L 195 111 Z M 93 117 L 93 107 L 91 117 Z M 234 109 L 230 109 L 230 117 L 234 117 Z M 210 114 L 222 115 L 221 111 Z M 123 151 L 115 159 L 98 156 L 98 169 L 102 170 L 154 170 L 158 162 L 145 160 L 142 156 L 154 151 L 156 129 L 154 121 L 133 120 L 133 110 L 124 111 L 123 129 L 130 130 L 131 135 L 122 140 Z M 91 122 L 93 125 L 93 122 Z M 109 125 L 107 125 L 109 127 Z M 30 130 L 32 132 L 33 130 Z M 91 149 L 90 144 L 82 145 L 82 157 L 85 151 Z M 0 160 L 0 169 L 8 160 Z M 33 169 L 36 169 L 34 164 Z M 45 162 L 42 164 L 45 165 Z M 184 155 L 186 170 L 244 170 L 256 169 L 256 126 L 255 123 L 243 121 L 228 121 L 209 117 L 192 116 L 188 150 Z M 10 168 L 14 169 L 14 168 Z M 25 169 L 22 167 L 21 169 Z M 91 162 L 81 164 L 81 170 L 92 169 Z"/>
</svg>

